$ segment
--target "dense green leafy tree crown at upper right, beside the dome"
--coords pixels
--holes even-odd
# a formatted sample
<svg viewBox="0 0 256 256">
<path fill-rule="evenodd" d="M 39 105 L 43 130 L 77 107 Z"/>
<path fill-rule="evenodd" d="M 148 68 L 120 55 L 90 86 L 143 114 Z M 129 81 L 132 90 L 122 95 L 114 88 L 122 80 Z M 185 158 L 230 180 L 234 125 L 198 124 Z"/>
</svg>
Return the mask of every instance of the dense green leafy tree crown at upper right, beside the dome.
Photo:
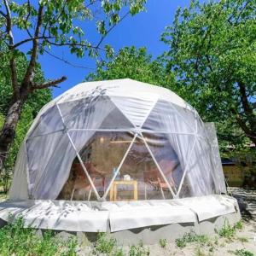
<svg viewBox="0 0 256 256">
<path fill-rule="evenodd" d="M 175 74 L 180 94 L 206 120 L 222 123 L 221 132 L 230 140 L 245 135 L 253 143 L 255 18 L 255 1 L 192 1 L 189 8 L 177 9 L 173 24 L 161 36 L 169 47 L 163 60 Z"/>
</svg>

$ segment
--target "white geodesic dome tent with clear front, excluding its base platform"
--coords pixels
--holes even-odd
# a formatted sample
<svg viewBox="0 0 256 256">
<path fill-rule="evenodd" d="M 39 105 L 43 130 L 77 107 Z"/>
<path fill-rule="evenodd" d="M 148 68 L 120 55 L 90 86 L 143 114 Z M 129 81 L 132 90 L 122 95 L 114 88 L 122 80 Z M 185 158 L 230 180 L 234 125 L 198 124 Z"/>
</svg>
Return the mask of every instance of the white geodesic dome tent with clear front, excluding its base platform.
<svg viewBox="0 0 256 256">
<path fill-rule="evenodd" d="M 131 79 L 78 84 L 38 113 L 13 200 L 141 201 L 225 193 L 218 142 L 171 90 Z"/>
</svg>

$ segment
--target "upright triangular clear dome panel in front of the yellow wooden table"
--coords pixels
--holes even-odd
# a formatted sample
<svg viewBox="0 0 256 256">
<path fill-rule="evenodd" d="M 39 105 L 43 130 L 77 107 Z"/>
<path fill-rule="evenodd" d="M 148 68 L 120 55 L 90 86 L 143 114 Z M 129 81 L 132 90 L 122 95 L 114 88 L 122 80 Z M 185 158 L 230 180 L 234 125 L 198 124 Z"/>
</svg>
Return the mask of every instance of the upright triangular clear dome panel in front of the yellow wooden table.
<svg viewBox="0 0 256 256">
<path fill-rule="evenodd" d="M 108 201 L 172 199 L 172 193 L 160 173 L 143 137 L 136 138 L 123 165 L 111 183 Z"/>
</svg>

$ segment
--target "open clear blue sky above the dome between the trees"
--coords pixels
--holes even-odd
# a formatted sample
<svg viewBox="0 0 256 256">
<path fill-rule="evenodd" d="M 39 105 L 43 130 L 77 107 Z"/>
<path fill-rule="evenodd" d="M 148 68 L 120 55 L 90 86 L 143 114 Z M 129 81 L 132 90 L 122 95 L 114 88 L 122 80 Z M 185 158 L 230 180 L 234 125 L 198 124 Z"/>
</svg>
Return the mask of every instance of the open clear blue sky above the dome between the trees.
<svg viewBox="0 0 256 256">
<path fill-rule="evenodd" d="M 189 6 L 189 0 L 148 0 L 146 12 L 123 20 L 108 34 L 104 44 L 111 44 L 115 52 L 125 46 L 145 46 L 148 53 L 153 57 L 160 55 L 166 49 L 165 44 L 160 42 L 160 34 L 164 31 L 165 26 L 172 23 L 178 6 Z M 86 26 L 83 28 L 86 32 Z M 91 28 L 90 31 L 92 31 Z M 90 38 L 96 40 L 98 35 L 92 32 Z M 78 59 L 75 55 L 69 54 L 68 49 L 54 48 L 51 52 L 73 64 L 95 68 L 96 61 L 94 59 Z M 72 67 L 47 54 L 41 56 L 39 61 L 46 79 L 57 79 L 62 75 L 67 76 L 67 81 L 61 84 L 61 88 L 54 88 L 54 97 L 79 84 L 88 73 L 93 72 L 93 69 Z"/>
</svg>

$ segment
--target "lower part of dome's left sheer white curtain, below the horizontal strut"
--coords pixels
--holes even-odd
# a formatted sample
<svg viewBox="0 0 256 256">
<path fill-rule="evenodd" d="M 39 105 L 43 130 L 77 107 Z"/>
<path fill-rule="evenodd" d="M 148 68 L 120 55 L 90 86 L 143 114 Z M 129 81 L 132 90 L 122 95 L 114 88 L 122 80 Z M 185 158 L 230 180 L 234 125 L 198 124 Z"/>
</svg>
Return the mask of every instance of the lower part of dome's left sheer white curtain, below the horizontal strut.
<svg viewBox="0 0 256 256">
<path fill-rule="evenodd" d="M 62 131 L 26 140 L 31 199 L 55 199 L 67 179 L 75 151 Z"/>
</svg>

